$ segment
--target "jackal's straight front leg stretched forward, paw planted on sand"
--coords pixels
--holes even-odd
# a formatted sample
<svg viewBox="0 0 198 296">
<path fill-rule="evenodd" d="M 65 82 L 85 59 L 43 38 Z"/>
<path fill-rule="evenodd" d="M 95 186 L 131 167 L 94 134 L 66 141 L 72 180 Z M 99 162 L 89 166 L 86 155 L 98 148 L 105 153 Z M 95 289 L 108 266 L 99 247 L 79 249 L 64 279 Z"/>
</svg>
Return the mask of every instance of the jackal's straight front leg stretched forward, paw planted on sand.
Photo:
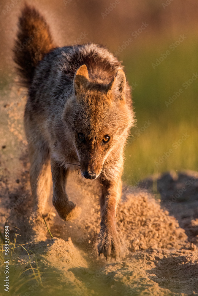
<svg viewBox="0 0 198 296">
<path fill-rule="evenodd" d="M 116 259 L 121 254 L 121 242 L 116 228 L 116 209 L 121 197 L 121 178 L 116 181 L 101 181 L 102 196 L 101 229 L 98 235 L 98 253 L 104 254 L 106 259 L 111 256 Z"/>
</svg>

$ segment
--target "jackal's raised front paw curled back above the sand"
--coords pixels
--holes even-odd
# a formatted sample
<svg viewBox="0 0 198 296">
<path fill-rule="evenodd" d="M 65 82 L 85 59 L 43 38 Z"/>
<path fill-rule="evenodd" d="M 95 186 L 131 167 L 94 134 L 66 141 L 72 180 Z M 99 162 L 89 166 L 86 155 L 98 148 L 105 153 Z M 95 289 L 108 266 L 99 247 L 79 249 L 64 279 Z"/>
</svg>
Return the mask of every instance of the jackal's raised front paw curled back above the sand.
<svg viewBox="0 0 198 296">
<path fill-rule="evenodd" d="M 76 205 L 71 201 L 66 206 L 54 206 L 58 212 L 58 215 L 61 217 L 61 219 L 65 221 L 71 221 L 73 219 L 76 219 L 81 213 L 81 208 L 76 207 Z"/>
</svg>

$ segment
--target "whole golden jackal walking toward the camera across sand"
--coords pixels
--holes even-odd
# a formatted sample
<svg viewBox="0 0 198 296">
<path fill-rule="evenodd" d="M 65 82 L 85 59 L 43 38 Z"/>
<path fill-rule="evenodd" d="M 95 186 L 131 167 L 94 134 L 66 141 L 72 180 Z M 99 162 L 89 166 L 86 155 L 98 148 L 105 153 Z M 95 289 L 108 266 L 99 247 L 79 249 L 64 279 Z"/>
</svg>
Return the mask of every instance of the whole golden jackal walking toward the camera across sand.
<svg viewBox="0 0 198 296">
<path fill-rule="evenodd" d="M 69 170 L 97 179 L 102 185 L 98 252 L 116 258 L 121 252 L 116 207 L 123 149 L 134 123 L 123 66 L 101 45 L 57 47 L 33 7 L 24 7 L 18 27 L 14 60 L 28 88 L 24 122 L 31 139 L 34 211 L 45 212 L 52 176 L 53 205 L 62 219 L 69 220 L 75 212 L 65 192 Z"/>
</svg>

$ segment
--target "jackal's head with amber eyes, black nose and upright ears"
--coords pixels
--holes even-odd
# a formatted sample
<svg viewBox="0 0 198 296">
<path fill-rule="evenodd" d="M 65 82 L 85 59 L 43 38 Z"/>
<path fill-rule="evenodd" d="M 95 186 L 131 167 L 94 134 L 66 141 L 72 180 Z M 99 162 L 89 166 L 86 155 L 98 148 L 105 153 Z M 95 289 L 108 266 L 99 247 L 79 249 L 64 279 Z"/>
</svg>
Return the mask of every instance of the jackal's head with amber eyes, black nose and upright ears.
<svg viewBox="0 0 198 296">
<path fill-rule="evenodd" d="M 126 103 L 125 85 L 123 70 L 118 70 L 110 82 L 90 79 L 86 65 L 75 74 L 74 94 L 66 103 L 64 120 L 81 174 L 87 179 L 100 175 L 107 158 L 123 154 L 133 122 L 132 110 Z"/>
</svg>

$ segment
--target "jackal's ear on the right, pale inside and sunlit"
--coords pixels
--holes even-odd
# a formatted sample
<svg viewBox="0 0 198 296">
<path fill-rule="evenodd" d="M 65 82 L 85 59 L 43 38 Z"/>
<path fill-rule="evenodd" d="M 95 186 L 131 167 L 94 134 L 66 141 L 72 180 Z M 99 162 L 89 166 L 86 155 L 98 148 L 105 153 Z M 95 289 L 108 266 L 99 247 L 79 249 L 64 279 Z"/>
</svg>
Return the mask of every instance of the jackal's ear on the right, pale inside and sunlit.
<svg viewBox="0 0 198 296">
<path fill-rule="evenodd" d="M 119 69 L 115 74 L 115 77 L 109 83 L 109 90 L 114 97 L 123 99 L 125 94 L 126 77 L 124 71 Z"/>
</svg>

